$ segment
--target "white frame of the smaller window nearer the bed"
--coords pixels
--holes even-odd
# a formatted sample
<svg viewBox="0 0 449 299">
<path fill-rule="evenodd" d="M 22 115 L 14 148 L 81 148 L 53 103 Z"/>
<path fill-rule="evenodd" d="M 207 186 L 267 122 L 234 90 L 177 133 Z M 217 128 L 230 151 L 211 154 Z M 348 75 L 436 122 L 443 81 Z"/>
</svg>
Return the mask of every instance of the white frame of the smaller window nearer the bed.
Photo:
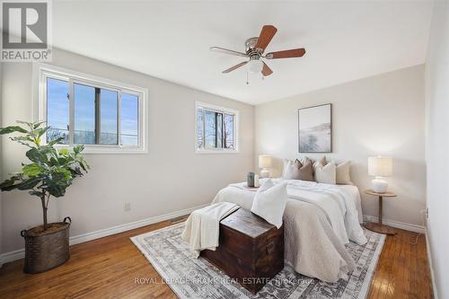
<svg viewBox="0 0 449 299">
<path fill-rule="evenodd" d="M 233 138 L 234 138 L 234 149 L 230 148 L 198 148 L 198 108 L 204 108 L 206 110 L 215 111 L 219 113 L 232 114 L 233 117 Z M 204 101 L 195 101 L 195 154 L 238 154 L 240 153 L 240 117 L 239 110 L 234 110 L 231 108 L 225 108 L 217 106 L 215 104 L 207 103 Z M 204 123 L 203 123 L 203 134 L 204 138 Z M 204 141 L 203 141 L 204 144 Z"/>
</svg>

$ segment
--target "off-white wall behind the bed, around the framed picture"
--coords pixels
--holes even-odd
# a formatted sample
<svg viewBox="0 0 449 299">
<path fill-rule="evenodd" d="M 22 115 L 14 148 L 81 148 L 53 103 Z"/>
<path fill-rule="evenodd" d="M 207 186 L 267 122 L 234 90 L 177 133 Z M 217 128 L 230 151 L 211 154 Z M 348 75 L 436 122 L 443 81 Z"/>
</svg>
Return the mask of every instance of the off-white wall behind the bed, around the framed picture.
<svg viewBox="0 0 449 299">
<path fill-rule="evenodd" d="M 301 80 L 298 78 L 298 80 Z M 367 157 L 393 157 L 387 180 L 397 198 L 384 200 L 384 218 L 422 224 L 425 207 L 424 67 L 414 66 L 316 92 L 256 106 L 257 154 L 295 159 L 298 154 L 298 109 L 332 103 L 333 153 L 336 162 L 350 160 L 351 177 L 363 191 L 371 187 Z M 306 154 L 320 157 L 323 154 Z M 280 160 L 275 175 L 280 175 Z M 364 214 L 377 215 L 377 198 L 362 194 Z"/>
</svg>

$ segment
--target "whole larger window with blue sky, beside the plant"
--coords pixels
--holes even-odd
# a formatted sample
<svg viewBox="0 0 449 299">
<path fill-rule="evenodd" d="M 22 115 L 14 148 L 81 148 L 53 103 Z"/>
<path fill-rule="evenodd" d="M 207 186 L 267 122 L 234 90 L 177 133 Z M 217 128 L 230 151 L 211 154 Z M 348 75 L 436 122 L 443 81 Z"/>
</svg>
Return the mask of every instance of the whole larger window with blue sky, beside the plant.
<svg viewBox="0 0 449 299">
<path fill-rule="evenodd" d="M 145 153 L 145 89 L 40 66 L 39 94 L 47 142 L 63 137 L 86 153 Z"/>
</svg>

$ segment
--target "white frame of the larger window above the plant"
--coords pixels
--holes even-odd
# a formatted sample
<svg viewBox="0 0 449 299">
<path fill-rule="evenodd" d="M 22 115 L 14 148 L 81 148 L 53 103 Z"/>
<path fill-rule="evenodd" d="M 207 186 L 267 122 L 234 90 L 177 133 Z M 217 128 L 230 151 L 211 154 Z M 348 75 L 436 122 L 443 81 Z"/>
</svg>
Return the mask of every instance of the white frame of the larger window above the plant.
<svg viewBox="0 0 449 299">
<path fill-rule="evenodd" d="M 84 154 L 147 154 L 148 119 L 146 116 L 148 107 L 148 90 L 131 84 L 124 84 L 110 79 L 101 78 L 95 75 L 87 75 L 75 72 L 66 68 L 51 66 L 46 64 L 33 64 L 33 91 L 35 101 L 33 101 L 33 118 L 37 120 L 47 120 L 47 78 L 64 80 L 69 83 L 69 145 L 56 145 L 60 148 L 72 148 L 75 144 L 75 101 L 74 84 L 85 84 L 92 87 L 99 87 L 118 92 L 118 134 L 120 134 L 120 110 L 121 93 L 126 92 L 138 97 L 138 145 L 84 145 Z M 44 136 L 44 143 L 47 136 Z"/>
</svg>

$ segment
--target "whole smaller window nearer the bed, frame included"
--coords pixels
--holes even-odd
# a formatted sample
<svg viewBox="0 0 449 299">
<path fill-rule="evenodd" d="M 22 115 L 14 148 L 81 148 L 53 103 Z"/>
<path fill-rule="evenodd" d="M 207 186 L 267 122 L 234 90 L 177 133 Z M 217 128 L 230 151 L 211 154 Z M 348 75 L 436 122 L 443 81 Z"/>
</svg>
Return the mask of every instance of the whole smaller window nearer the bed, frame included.
<svg viewBox="0 0 449 299">
<path fill-rule="evenodd" d="M 238 111 L 196 102 L 196 152 L 238 151 Z"/>
</svg>

